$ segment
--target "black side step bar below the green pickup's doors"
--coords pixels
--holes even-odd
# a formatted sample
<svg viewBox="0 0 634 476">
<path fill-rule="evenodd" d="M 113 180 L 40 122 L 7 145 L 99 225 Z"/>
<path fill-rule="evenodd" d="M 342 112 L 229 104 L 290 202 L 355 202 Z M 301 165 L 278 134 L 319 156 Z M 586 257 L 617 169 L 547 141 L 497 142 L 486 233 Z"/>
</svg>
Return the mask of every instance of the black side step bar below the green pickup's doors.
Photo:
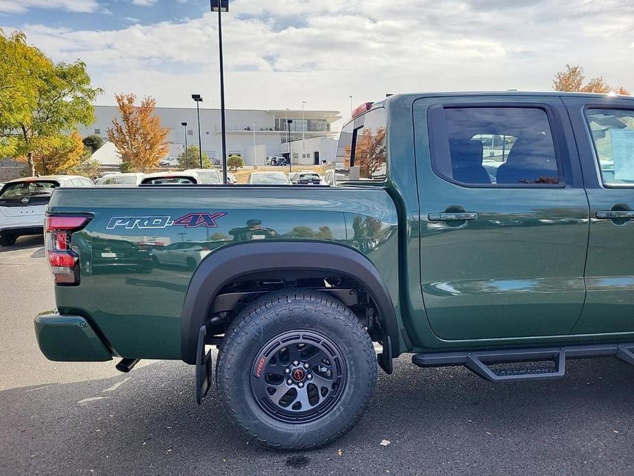
<svg viewBox="0 0 634 476">
<path fill-rule="evenodd" d="M 465 366 L 490 382 L 559 379 L 565 374 L 566 359 L 588 357 L 616 357 L 634 365 L 634 343 L 597 344 L 553 348 L 512 350 L 477 350 L 474 352 L 422 353 L 412 357 L 419 367 Z M 552 361 L 554 368 L 526 368 L 524 370 L 492 369 L 491 364 Z"/>
</svg>

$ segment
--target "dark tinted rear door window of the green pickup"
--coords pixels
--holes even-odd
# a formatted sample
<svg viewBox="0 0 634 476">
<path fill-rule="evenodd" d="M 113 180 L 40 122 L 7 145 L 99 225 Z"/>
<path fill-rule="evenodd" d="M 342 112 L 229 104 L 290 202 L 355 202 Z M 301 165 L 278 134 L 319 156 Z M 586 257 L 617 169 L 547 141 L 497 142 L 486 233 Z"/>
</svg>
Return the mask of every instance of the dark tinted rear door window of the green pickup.
<svg viewBox="0 0 634 476">
<path fill-rule="evenodd" d="M 465 185 L 563 183 L 545 110 L 445 108 L 443 115 L 450 156 L 432 154 L 441 177 Z"/>
</svg>

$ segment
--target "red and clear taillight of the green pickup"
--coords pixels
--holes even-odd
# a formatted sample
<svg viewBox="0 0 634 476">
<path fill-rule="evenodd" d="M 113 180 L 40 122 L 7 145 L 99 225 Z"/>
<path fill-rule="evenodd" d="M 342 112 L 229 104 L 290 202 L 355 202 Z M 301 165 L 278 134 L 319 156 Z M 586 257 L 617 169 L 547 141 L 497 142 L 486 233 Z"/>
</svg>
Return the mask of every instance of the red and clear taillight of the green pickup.
<svg viewBox="0 0 634 476">
<path fill-rule="evenodd" d="M 90 221 L 86 215 L 47 215 L 45 245 L 49 265 L 58 285 L 80 283 L 80 257 L 71 250 L 71 235 Z"/>
</svg>

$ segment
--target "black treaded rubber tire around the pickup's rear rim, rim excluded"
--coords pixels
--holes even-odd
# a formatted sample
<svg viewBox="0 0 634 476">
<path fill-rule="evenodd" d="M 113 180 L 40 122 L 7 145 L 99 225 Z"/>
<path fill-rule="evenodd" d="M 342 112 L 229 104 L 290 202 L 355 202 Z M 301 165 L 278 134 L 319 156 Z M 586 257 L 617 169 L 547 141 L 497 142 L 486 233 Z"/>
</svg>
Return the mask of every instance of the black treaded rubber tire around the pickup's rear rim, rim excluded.
<svg viewBox="0 0 634 476">
<path fill-rule="evenodd" d="M 341 349 L 347 377 L 326 414 L 306 423 L 286 423 L 263 411 L 250 381 L 260 349 L 298 329 L 321 333 Z M 260 444 L 280 450 L 315 449 L 343 436 L 365 412 L 376 374 L 374 346 L 354 313 L 325 293 L 302 289 L 267 294 L 245 307 L 225 333 L 216 366 L 219 396 L 239 427 Z"/>
</svg>

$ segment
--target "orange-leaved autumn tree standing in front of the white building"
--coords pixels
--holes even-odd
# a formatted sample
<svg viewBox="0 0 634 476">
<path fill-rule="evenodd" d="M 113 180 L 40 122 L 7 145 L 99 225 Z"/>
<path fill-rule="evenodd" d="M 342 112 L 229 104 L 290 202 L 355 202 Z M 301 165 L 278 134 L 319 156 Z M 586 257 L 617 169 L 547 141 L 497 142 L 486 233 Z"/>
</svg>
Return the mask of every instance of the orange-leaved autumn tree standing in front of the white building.
<svg viewBox="0 0 634 476">
<path fill-rule="evenodd" d="M 145 172 L 158 166 L 158 161 L 169 152 L 169 128 L 161 126 L 154 114 L 156 100 L 144 97 L 141 106 L 135 106 L 136 95 L 117 94 L 121 122 L 112 120 L 108 140 L 121 154 L 123 169 Z"/>
</svg>

